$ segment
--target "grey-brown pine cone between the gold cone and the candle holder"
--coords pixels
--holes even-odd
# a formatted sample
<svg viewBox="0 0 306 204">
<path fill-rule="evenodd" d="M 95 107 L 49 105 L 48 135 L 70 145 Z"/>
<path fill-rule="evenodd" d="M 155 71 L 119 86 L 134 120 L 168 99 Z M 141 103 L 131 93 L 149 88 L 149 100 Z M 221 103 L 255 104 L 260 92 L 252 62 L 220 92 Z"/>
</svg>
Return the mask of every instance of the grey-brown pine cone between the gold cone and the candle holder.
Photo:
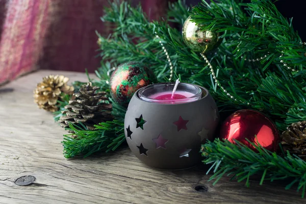
<svg viewBox="0 0 306 204">
<path fill-rule="evenodd" d="M 91 83 L 83 85 L 78 93 L 74 93 L 69 105 L 62 111 L 64 116 L 59 120 L 62 127 L 68 127 L 70 123 L 82 122 L 88 130 L 94 130 L 94 125 L 100 122 L 113 120 L 112 104 L 108 101 L 106 92 L 96 92 L 99 88 L 92 87 Z M 69 133 L 74 133 L 67 130 Z"/>
</svg>

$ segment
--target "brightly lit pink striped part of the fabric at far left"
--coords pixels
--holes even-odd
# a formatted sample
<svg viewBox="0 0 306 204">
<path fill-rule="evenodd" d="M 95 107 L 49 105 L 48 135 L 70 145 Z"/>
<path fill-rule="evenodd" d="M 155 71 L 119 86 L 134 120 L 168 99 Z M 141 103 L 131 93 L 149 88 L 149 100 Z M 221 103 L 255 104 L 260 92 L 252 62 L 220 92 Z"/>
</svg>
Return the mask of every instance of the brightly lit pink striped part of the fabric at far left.
<svg viewBox="0 0 306 204">
<path fill-rule="evenodd" d="M 36 69 L 46 33 L 49 1 L 11 0 L 0 41 L 0 84 Z"/>
</svg>

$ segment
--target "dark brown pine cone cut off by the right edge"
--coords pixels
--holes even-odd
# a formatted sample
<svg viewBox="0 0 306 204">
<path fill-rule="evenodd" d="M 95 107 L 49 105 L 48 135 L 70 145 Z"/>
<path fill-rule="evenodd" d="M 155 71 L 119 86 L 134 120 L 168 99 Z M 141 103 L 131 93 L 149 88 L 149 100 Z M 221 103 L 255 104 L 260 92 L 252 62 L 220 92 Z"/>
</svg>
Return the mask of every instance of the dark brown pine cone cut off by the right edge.
<svg viewBox="0 0 306 204">
<path fill-rule="evenodd" d="M 284 150 L 306 161 L 306 121 L 292 123 L 281 135 Z"/>
</svg>

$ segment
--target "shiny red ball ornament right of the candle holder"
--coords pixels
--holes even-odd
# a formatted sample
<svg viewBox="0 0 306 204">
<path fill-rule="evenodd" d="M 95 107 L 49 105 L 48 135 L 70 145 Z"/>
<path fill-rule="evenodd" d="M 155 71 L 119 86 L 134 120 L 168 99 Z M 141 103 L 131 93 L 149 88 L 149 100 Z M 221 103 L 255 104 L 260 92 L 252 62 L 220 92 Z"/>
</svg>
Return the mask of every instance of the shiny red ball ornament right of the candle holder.
<svg viewBox="0 0 306 204">
<path fill-rule="evenodd" d="M 260 112 L 253 110 L 240 110 L 228 116 L 221 126 L 220 138 L 232 143 L 237 140 L 249 148 L 256 148 L 254 144 L 260 144 L 270 151 L 276 151 L 279 135 L 276 126 L 269 118 Z"/>
</svg>

